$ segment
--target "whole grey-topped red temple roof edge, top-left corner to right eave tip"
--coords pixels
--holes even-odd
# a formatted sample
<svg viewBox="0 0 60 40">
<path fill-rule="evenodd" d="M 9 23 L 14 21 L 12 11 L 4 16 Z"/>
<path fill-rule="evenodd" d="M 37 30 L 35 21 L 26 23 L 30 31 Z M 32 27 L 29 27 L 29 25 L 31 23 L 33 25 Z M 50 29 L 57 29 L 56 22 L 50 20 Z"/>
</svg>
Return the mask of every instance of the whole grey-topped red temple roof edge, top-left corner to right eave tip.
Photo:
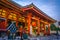
<svg viewBox="0 0 60 40">
<path fill-rule="evenodd" d="M 8 5 L 10 8 L 14 8 L 16 10 L 21 11 L 21 9 L 35 9 L 38 11 L 38 13 L 42 16 L 44 16 L 45 18 L 48 18 L 50 21 L 52 22 L 56 22 L 56 20 L 54 20 L 53 18 L 51 18 L 50 16 L 48 16 L 46 13 L 44 13 L 43 11 L 41 11 L 38 7 L 36 7 L 33 3 L 31 3 L 30 5 L 26 5 L 26 6 L 21 6 L 19 4 L 17 4 L 16 2 L 12 1 L 12 0 L 1 0 L 1 2 L 5 2 L 5 5 Z"/>
</svg>

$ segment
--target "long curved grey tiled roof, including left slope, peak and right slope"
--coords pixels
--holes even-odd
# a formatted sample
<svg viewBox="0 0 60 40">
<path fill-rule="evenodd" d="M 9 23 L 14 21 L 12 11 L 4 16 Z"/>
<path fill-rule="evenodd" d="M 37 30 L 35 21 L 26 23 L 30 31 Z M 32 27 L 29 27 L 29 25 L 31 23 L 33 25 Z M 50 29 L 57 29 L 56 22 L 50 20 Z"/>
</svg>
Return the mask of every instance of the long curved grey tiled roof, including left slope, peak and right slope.
<svg viewBox="0 0 60 40">
<path fill-rule="evenodd" d="M 3 0 L 4 1 L 4 0 Z M 38 7 L 36 7 L 33 3 L 30 4 L 30 5 L 27 5 L 27 6 L 21 6 L 19 4 L 17 4 L 16 2 L 12 1 L 12 0 L 6 0 L 7 4 L 10 6 L 10 7 L 15 7 L 17 10 L 20 10 L 20 9 L 23 9 L 24 8 L 30 8 L 30 7 L 33 7 L 34 9 L 36 9 L 39 14 L 42 14 L 42 16 L 45 16 L 45 18 L 48 18 L 50 21 L 53 21 L 53 22 L 56 22 L 56 20 L 54 20 L 53 18 L 49 17 L 46 13 L 44 13 L 43 11 L 41 11 Z"/>
</svg>

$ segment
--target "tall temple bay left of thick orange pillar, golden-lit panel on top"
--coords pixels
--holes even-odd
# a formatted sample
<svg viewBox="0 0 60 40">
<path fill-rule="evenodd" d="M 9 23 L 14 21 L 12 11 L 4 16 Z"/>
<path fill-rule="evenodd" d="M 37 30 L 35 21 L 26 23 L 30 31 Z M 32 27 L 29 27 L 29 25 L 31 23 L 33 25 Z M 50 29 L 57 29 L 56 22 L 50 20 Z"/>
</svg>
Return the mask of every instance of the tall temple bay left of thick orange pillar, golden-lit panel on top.
<svg viewBox="0 0 60 40">
<path fill-rule="evenodd" d="M 18 21 L 18 31 L 20 33 L 20 37 L 26 38 L 28 35 L 28 23 L 27 18 L 21 16 Z M 27 35 L 26 35 L 27 34 Z M 25 36 L 24 36 L 25 35 Z M 22 38 L 21 38 L 22 39 Z"/>
</svg>

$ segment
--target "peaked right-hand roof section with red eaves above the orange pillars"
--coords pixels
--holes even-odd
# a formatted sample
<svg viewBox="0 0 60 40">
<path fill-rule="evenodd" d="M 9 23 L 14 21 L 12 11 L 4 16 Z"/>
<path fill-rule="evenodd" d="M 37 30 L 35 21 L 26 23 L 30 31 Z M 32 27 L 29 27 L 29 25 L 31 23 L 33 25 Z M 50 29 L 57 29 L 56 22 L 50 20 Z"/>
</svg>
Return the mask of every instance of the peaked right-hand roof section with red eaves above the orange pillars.
<svg viewBox="0 0 60 40">
<path fill-rule="evenodd" d="M 40 15 L 42 14 L 42 16 L 44 15 L 45 18 L 49 18 L 50 21 L 56 22 L 55 19 L 51 18 L 51 17 L 48 16 L 46 13 L 44 13 L 43 11 L 41 11 L 41 10 L 40 10 L 38 7 L 36 7 L 33 3 L 31 3 L 30 5 L 26 5 L 26 6 L 24 6 L 23 8 L 26 9 L 26 10 L 29 10 L 29 9 L 32 9 L 32 8 L 33 8 L 33 9 L 37 10 Z M 27 9 L 27 8 L 28 8 L 28 9 Z"/>
</svg>

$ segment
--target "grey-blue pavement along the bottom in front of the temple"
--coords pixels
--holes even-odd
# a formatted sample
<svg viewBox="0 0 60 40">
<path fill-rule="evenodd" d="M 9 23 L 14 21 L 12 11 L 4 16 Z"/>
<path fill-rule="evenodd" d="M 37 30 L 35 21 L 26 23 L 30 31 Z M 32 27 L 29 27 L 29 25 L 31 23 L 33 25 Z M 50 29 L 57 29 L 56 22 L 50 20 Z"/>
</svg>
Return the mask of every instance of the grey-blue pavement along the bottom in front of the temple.
<svg viewBox="0 0 60 40">
<path fill-rule="evenodd" d="M 0 37 L 0 40 L 8 40 L 8 37 Z M 16 37 L 15 40 L 20 40 L 20 37 Z M 24 40 L 60 40 L 60 36 L 51 35 L 51 36 L 39 36 L 39 37 L 29 37 L 29 39 Z"/>
</svg>

